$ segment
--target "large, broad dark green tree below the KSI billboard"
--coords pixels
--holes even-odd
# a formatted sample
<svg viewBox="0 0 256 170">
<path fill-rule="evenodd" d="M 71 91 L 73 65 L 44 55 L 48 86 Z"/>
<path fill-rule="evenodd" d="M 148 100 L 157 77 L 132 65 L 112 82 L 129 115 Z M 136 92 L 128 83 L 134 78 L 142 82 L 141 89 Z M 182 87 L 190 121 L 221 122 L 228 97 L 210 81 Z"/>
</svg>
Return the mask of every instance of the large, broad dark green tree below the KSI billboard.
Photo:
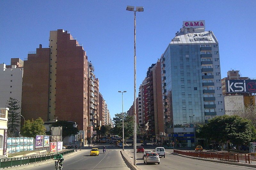
<svg viewBox="0 0 256 170">
<path fill-rule="evenodd" d="M 246 118 L 237 115 L 216 116 L 210 119 L 199 130 L 199 136 L 216 142 L 227 142 L 233 144 L 246 144 L 255 138 L 255 127 Z"/>
</svg>

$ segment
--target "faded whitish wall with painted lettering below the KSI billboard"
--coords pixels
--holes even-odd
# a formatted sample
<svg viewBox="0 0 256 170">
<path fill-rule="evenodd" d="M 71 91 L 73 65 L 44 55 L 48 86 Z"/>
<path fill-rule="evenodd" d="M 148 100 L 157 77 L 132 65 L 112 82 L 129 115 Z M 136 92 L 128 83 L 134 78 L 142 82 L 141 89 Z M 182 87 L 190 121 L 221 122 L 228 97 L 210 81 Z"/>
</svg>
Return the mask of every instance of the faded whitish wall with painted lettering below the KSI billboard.
<svg viewBox="0 0 256 170">
<path fill-rule="evenodd" d="M 234 115 L 239 109 L 244 108 L 244 96 L 236 95 L 236 96 L 225 96 L 225 114 L 226 115 Z"/>
</svg>

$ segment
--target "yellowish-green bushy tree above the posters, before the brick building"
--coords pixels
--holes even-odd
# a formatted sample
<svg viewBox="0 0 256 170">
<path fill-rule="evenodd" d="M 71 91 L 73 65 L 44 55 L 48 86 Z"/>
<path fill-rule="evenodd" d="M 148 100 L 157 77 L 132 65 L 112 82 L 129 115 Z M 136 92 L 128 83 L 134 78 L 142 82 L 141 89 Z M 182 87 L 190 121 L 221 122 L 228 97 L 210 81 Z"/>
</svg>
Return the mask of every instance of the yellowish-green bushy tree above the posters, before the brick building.
<svg viewBox="0 0 256 170">
<path fill-rule="evenodd" d="M 45 130 L 44 121 L 39 117 L 36 120 L 32 119 L 32 121 L 25 121 L 20 134 L 24 137 L 36 137 L 36 135 L 45 135 Z"/>
</svg>

